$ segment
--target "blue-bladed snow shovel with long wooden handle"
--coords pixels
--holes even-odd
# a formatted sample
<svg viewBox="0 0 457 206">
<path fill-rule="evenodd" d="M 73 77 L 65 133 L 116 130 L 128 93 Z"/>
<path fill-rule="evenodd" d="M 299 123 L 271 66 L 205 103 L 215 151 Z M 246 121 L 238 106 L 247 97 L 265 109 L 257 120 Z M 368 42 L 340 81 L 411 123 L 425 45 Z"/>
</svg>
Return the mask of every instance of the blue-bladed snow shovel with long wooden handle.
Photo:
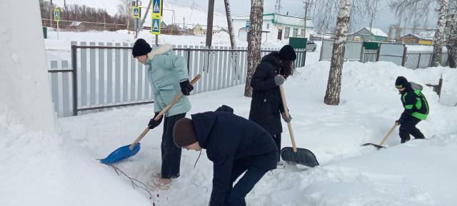
<svg viewBox="0 0 457 206">
<path fill-rule="evenodd" d="M 195 78 L 191 81 L 191 84 L 194 85 L 197 81 L 200 79 L 200 75 L 198 74 L 195 76 Z M 179 99 L 184 96 L 183 93 L 177 94 L 171 103 L 165 106 L 163 110 L 159 113 L 159 115 L 154 118 L 155 120 L 159 120 L 176 102 L 179 101 Z M 139 152 L 141 148 L 141 144 L 139 141 L 144 137 L 149 132 L 149 127 L 146 127 L 143 132 L 134 140 L 134 143 L 131 143 L 130 145 L 125 145 L 124 147 L 118 148 L 117 150 L 114 150 L 111 154 L 108 155 L 108 157 L 101 159 L 100 162 L 104 164 L 111 164 L 111 163 L 117 163 L 120 160 L 124 160 L 125 158 L 129 158 L 133 155 L 136 155 L 136 153 Z"/>
</svg>

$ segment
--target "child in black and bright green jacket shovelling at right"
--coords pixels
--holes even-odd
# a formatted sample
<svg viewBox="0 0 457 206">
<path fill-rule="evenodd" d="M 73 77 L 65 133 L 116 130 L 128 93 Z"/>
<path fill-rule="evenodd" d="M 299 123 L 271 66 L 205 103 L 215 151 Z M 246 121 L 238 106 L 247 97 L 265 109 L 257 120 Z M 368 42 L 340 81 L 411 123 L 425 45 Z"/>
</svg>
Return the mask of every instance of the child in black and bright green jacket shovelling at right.
<svg viewBox="0 0 457 206">
<path fill-rule="evenodd" d="M 400 125 L 401 143 L 406 143 L 411 139 L 410 134 L 416 139 L 424 139 L 421 130 L 416 125 L 425 120 L 428 115 L 428 103 L 422 94 L 422 86 L 417 83 L 408 82 L 403 76 L 398 76 L 395 87 L 401 94 L 401 103 L 405 110 L 401 113 L 400 119 L 396 123 Z"/>
</svg>

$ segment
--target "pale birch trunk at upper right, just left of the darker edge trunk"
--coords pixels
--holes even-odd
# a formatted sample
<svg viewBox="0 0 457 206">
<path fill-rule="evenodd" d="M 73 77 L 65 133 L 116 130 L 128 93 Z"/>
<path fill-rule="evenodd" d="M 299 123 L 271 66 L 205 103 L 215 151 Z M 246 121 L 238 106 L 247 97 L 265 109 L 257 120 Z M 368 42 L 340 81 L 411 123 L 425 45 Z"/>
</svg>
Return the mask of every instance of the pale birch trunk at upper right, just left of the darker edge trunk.
<svg viewBox="0 0 457 206">
<path fill-rule="evenodd" d="M 433 56 L 431 66 L 441 65 L 441 55 L 443 53 L 444 44 L 444 28 L 446 26 L 446 16 L 448 14 L 449 0 L 440 0 L 440 13 L 438 19 L 438 26 L 436 29 L 435 37 L 433 38 Z"/>
</svg>

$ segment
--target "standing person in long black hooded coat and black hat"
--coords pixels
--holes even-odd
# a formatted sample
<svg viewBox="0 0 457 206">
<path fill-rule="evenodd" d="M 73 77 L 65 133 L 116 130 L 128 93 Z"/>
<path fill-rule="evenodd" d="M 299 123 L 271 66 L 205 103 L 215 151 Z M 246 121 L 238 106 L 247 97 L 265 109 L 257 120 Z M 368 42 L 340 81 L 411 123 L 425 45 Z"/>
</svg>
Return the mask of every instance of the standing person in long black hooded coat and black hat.
<svg viewBox="0 0 457 206">
<path fill-rule="evenodd" d="M 290 45 L 283 46 L 279 52 L 273 51 L 263 56 L 251 80 L 252 100 L 249 120 L 253 120 L 270 133 L 281 152 L 281 117 L 286 123 L 291 118 L 286 118 L 279 85 L 293 75 L 293 61 L 296 53 Z M 279 161 L 279 159 L 278 159 Z"/>
</svg>

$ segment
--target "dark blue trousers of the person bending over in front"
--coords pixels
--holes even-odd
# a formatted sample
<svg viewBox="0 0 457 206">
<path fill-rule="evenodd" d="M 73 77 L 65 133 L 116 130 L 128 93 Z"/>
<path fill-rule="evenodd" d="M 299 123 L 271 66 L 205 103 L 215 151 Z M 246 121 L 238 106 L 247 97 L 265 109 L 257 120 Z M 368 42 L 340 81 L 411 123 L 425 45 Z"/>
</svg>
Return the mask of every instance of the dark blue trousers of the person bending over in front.
<svg viewBox="0 0 457 206">
<path fill-rule="evenodd" d="M 243 177 L 233 186 L 233 182 L 235 182 L 244 171 L 246 171 L 246 173 L 244 173 Z M 266 172 L 268 172 L 268 170 L 262 170 L 235 161 L 231 170 L 230 187 L 226 192 L 224 206 L 246 206 L 244 197 L 248 195 L 254 185 L 256 185 L 258 180 L 260 180 Z"/>
</svg>

